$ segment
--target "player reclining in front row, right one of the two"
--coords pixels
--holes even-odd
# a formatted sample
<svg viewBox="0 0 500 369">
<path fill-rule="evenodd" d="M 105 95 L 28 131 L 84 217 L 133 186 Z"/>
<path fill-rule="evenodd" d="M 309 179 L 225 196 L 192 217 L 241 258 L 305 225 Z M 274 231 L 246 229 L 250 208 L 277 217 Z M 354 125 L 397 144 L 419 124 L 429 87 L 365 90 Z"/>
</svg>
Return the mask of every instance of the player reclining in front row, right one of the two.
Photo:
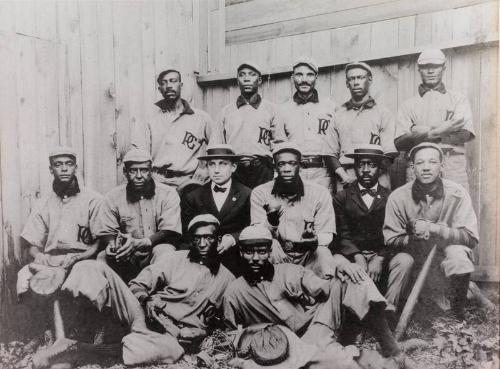
<svg viewBox="0 0 500 369">
<path fill-rule="evenodd" d="M 272 240 L 269 230 L 261 225 L 241 232 L 243 275 L 229 285 L 223 298 L 228 328 L 275 323 L 308 343 L 323 346 L 338 337 L 347 345 L 354 343 L 357 333 L 343 326 L 344 317 L 349 315 L 372 331 L 385 357 L 400 367 L 412 367 L 389 330 L 385 299 L 370 279 L 361 283 L 326 280 L 300 265 L 272 264 Z"/>
</svg>

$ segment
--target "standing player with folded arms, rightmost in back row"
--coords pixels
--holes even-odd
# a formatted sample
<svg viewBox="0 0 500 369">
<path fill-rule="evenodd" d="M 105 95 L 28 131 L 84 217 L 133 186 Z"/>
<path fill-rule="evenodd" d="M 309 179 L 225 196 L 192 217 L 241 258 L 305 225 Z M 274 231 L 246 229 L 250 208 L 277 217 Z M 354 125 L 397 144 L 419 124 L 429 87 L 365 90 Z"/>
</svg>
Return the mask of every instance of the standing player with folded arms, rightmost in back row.
<svg viewBox="0 0 500 369">
<path fill-rule="evenodd" d="M 417 64 L 422 84 L 418 86 L 418 95 L 399 108 L 394 140 L 396 148 L 409 152 L 424 141 L 437 143 L 445 157 L 443 178 L 468 190 L 464 144 L 475 137 L 470 104 L 465 96 L 445 87 L 446 59 L 441 50 L 422 52 Z M 407 180 L 413 178 L 409 167 Z"/>
</svg>

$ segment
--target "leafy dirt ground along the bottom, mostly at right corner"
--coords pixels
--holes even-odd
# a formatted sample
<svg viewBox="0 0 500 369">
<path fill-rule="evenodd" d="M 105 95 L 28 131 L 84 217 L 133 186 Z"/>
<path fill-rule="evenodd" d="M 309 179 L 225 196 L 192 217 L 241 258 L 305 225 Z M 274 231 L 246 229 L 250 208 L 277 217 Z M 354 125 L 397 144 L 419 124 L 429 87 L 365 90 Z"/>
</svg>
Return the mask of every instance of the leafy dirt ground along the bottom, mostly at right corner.
<svg viewBox="0 0 500 369">
<path fill-rule="evenodd" d="M 484 294 L 496 305 L 496 311 L 486 312 L 471 303 L 463 322 L 451 319 L 432 303 L 420 301 L 408 326 L 405 339 L 419 338 L 426 347 L 417 347 L 408 354 L 426 369 L 498 369 L 499 366 L 499 310 L 498 284 L 482 286 Z M 376 348 L 372 337 L 363 337 L 360 348 Z M 0 368 L 31 368 L 31 354 L 26 354 L 25 343 L 0 343 Z M 125 369 L 118 360 L 81 365 L 80 369 Z M 198 368 L 195 356 L 185 355 L 174 365 L 149 365 L 143 369 Z M 224 364 L 218 369 L 225 369 Z M 334 368 L 332 366 L 332 368 Z"/>
</svg>

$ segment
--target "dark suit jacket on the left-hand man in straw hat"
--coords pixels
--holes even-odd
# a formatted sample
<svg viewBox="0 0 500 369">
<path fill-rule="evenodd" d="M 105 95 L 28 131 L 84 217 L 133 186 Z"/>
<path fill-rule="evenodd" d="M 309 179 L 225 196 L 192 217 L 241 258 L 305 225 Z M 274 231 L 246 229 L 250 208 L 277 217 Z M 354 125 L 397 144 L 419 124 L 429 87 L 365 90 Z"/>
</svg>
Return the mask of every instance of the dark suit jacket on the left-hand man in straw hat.
<svg viewBox="0 0 500 369">
<path fill-rule="evenodd" d="M 212 214 L 220 222 L 220 234 L 231 234 L 236 241 L 243 228 L 250 225 L 250 194 L 252 190 L 234 178 L 226 201 L 217 210 L 212 195 L 212 182 L 187 193 L 181 199 L 181 218 L 183 234 L 191 219 L 199 214 Z"/>
</svg>

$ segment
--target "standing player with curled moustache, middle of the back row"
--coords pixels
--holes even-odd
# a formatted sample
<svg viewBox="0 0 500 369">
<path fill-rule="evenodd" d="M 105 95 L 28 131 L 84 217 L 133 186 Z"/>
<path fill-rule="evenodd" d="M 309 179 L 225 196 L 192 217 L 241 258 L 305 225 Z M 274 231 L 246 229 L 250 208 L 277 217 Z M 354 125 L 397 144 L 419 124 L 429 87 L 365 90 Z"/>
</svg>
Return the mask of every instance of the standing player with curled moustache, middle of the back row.
<svg viewBox="0 0 500 369">
<path fill-rule="evenodd" d="M 302 152 L 301 177 L 328 188 L 333 194 L 335 173 L 343 183 L 351 181 L 338 161 L 335 104 L 329 99 L 320 100 L 314 88 L 318 78 L 318 65 L 314 60 L 298 58 L 292 69 L 291 79 L 296 91 L 280 106 L 285 134 Z"/>
</svg>

